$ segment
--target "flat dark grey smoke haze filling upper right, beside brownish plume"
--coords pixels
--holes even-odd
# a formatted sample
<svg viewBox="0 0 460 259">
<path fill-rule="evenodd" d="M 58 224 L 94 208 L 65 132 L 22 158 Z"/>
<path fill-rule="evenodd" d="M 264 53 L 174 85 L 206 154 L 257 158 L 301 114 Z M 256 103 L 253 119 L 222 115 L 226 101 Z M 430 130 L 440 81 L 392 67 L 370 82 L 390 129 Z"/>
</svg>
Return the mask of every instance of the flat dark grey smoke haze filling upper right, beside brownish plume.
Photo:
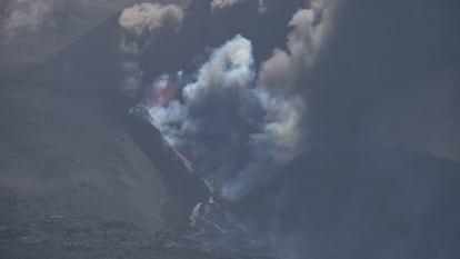
<svg viewBox="0 0 460 259">
<path fill-rule="evenodd" d="M 459 10 L 451 0 L 343 1 L 306 80 L 317 86 L 316 139 L 460 160 Z"/>
</svg>

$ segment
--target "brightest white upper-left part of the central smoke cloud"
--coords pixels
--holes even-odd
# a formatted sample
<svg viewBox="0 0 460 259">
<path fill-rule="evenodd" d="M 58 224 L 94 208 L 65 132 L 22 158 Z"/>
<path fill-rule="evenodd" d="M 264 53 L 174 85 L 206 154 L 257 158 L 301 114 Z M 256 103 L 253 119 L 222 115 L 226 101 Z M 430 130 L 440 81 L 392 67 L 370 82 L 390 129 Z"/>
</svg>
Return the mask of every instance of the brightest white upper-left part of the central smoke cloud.
<svg viewBox="0 0 460 259">
<path fill-rule="evenodd" d="M 254 79 L 252 70 L 252 46 L 249 40 L 237 36 L 217 49 L 208 62 L 197 72 L 196 79 L 182 86 L 183 100 L 172 100 L 164 103 L 162 91 L 173 80 L 170 76 L 160 76 L 152 84 L 148 100 L 150 113 L 156 124 L 171 143 L 187 141 L 187 136 L 193 136 L 200 127 L 200 118 L 190 116 L 190 110 L 201 109 L 202 103 L 210 99 L 221 98 L 221 94 L 236 94 L 243 98 L 248 94 L 249 86 Z M 180 83 L 182 73 L 178 72 L 176 81 Z M 180 87 L 180 86 L 178 86 Z"/>
</svg>

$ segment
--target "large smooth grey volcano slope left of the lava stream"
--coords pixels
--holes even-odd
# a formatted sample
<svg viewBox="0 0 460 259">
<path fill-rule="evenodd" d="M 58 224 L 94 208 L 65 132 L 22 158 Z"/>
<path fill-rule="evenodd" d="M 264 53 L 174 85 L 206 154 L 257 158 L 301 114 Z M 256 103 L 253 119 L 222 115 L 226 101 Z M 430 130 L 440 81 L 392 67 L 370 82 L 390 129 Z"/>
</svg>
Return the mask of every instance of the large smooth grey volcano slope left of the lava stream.
<svg viewBox="0 0 460 259">
<path fill-rule="evenodd" d="M 108 228 L 121 228 L 120 238 L 140 232 L 132 233 L 130 242 L 164 227 L 183 229 L 193 206 L 207 198 L 206 186 L 163 145 L 158 131 L 128 114 L 117 89 L 108 87 L 114 81 L 107 79 L 109 72 L 86 68 L 96 60 L 94 53 L 117 57 L 116 47 L 103 48 L 106 42 L 100 41 L 117 32 L 116 24 L 108 20 L 37 69 L 1 86 L 2 258 L 44 256 L 39 252 L 73 258 L 62 252 L 70 246 L 84 253 L 78 237 L 96 242 L 100 237 L 91 235 Z M 112 61 L 103 60 L 96 66 Z M 157 157 L 138 146 L 142 140 L 132 139 L 131 127 L 147 129 L 143 136 L 151 141 L 144 142 L 153 145 L 149 149 Z M 78 237 L 71 237 L 73 230 Z M 33 243 L 41 248 L 30 247 Z M 110 250 L 110 243 L 98 249 Z"/>
</svg>

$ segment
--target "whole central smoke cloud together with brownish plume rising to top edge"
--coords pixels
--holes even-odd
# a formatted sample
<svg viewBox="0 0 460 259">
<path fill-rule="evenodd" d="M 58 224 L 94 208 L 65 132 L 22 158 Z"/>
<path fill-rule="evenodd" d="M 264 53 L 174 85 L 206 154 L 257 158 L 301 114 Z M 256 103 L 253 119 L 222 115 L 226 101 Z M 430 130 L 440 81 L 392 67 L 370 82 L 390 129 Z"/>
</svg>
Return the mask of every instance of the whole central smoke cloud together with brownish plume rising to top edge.
<svg viewBox="0 0 460 259">
<path fill-rule="evenodd" d="M 162 74 L 147 90 L 153 123 L 224 197 L 244 196 L 306 147 L 307 106 L 293 89 L 327 36 L 326 7 L 314 1 L 292 17 L 288 50 L 274 50 L 259 74 L 251 42 L 236 36 L 193 76 Z"/>
</svg>

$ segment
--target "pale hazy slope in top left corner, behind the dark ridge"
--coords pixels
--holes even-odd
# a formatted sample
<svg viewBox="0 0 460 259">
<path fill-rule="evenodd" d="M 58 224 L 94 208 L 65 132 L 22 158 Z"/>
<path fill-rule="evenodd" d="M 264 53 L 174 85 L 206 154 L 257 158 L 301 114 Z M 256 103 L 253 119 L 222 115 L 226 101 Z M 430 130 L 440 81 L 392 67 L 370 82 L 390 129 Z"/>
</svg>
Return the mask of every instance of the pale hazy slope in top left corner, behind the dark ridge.
<svg viewBox="0 0 460 259">
<path fill-rule="evenodd" d="M 2 1 L 0 78 L 42 64 L 136 2 L 139 1 L 116 0 L 110 1 L 110 4 L 107 0 Z M 189 0 L 144 2 L 187 6 Z M 23 20 L 19 21 L 18 18 Z"/>
</svg>

